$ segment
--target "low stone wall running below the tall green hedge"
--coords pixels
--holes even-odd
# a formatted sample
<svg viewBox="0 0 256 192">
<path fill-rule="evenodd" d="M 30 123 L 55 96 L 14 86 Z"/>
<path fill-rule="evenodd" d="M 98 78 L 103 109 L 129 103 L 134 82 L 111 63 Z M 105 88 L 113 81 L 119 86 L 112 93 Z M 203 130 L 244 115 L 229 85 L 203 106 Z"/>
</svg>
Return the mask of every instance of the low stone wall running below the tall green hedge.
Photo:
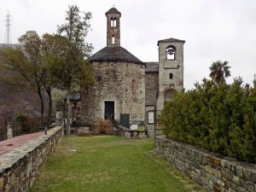
<svg viewBox="0 0 256 192">
<path fill-rule="evenodd" d="M 208 191 L 256 192 L 256 165 L 155 137 L 154 150 Z"/>
</svg>

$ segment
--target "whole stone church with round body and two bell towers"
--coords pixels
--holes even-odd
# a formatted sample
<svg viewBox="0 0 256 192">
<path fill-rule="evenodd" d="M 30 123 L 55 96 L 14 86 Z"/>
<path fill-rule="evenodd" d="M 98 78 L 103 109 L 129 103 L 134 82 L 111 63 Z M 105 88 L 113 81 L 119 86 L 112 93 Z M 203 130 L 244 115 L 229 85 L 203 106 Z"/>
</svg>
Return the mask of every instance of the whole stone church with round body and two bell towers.
<svg viewBox="0 0 256 192">
<path fill-rule="evenodd" d="M 183 89 L 185 41 L 159 40 L 159 62 L 143 62 L 121 47 L 119 10 L 106 17 L 107 46 L 88 58 L 96 84 L 84 90 L 80 116 L 86 124 L 128 117 L 129 125 L 154 125 L 164 102 Z"/>
</svg>

